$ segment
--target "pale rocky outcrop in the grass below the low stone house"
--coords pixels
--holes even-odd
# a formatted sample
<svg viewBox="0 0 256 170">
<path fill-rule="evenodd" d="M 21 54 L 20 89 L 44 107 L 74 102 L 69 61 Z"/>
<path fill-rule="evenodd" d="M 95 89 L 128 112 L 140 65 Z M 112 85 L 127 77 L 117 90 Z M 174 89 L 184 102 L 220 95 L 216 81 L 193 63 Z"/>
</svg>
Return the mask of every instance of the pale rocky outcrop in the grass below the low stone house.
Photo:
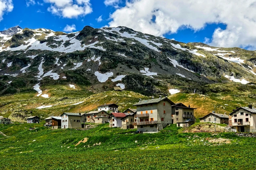
<svg viewBox="0 0 256 170">
<path fill-rule="evenodd" d="M 215 132 L 215 126 L 211 123 L 199 124 L 192 129 L 184 131 L 185 133 L 197 133 L 197 132 Z M 228 130 L 223 127 L 216 125 L 216 132 L 228 132 Z"/>
</svg>

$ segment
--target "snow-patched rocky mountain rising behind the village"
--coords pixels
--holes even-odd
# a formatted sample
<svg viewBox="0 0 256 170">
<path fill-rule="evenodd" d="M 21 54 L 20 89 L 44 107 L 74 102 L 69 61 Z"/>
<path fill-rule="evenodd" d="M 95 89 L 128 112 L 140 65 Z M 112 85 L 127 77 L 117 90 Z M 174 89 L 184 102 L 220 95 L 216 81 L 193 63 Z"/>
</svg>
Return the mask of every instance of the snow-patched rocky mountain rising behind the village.
<svg viewBox="0 0 256 170">
<path fill-rule="evenodd" d="M 96 103 L 132 106 L 132 102 L 120 102 L 122 99 L 108 98 L 109 95 L 129 95 L 135 101 L 153 95 L 187 93 L 191 95 L 173 96 L 175 102 L 190 104 L 190 101 L 195 107 L 205 107 L 197 110 L 198 115 L 212 110 L 213 104 L 231 105 L 221 107 L 225 112 L 256 99 L 254 51 L 185 44 L 123 26 L 101 29 L 85 26 L 82 31 L 69 34 L 25 28 L 1 43 L 0 111 L 12 116 L 20 108 L 41 114 L 34 109 L 39 104 L 64 106 L 53 112 L 56 115 L 67 110 L 88 111 Z M 125 92 L 119 94 L 113 90 Z M 192 95 L 194 92 L 200 95 Z M 94 94 L 103 96 L 97 95 L 97 99 Z M 83 98 L 87 102 L 81 105 L 86 109 L 75 106 L 73 109 L 61 97 L 68 97 L 72 104 Z"/>
</svg>

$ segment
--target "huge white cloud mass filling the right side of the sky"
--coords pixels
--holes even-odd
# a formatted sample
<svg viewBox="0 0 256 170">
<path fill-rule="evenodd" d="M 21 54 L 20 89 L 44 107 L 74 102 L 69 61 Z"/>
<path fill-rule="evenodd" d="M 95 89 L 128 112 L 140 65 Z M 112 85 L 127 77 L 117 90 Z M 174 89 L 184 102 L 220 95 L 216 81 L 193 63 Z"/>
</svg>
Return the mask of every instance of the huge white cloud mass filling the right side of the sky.
<svg viewBox="0 0 256 170">
<path fill-rule="evenodd" d="M 224 23 L 227 27 L 216 28 L 212 37 L 205 39 L 207 43 L 256 49 L 255 8 L 256 0 L 132 0 L 110 15 L 109 26 L 163 36 L 177 33 L 180 28 L 199 31 L 206 24 Z"/>
</svg>

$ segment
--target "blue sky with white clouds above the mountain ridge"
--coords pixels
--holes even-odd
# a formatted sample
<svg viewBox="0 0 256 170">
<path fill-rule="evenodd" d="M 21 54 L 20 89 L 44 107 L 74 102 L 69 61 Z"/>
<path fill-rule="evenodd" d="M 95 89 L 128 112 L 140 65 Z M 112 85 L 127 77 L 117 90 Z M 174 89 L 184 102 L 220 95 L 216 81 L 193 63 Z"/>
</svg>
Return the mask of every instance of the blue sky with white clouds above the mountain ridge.
<svg viewBox="0 0 256 170">
<path fill-rule="evenodd" d="M 256 0 L 0 0 L 0 30 L 126 26 L 184 43 L 256 50 L 255 8 Z"/>
</svg>

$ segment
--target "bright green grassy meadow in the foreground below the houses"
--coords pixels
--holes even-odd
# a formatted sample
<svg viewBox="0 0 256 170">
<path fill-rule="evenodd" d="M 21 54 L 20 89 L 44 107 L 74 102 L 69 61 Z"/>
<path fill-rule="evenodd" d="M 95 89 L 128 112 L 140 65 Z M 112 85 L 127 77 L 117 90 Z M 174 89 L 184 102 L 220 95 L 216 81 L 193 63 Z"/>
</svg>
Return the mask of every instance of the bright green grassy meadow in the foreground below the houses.
<svg viewBox="0 0 256 170">
<path fill-rule="evenodd" d="M 255 139 L 233 133 L 179 133 L 172 124 L 159 133 L 133 134 L 136 129 L 102 124 L 72 130 L 70 137 L 70 129 L 52 130 L 43 123 L 0 125 L 9 135 L 0 136 L 3 169 L 255 169 Z M 37 129 L 29 131 L 31 126 Z M 87 142 L 75 146 L 85 137 Z M 212 144 L 207 137 L 228 138 L 231 144 Z"/>
</svg>

